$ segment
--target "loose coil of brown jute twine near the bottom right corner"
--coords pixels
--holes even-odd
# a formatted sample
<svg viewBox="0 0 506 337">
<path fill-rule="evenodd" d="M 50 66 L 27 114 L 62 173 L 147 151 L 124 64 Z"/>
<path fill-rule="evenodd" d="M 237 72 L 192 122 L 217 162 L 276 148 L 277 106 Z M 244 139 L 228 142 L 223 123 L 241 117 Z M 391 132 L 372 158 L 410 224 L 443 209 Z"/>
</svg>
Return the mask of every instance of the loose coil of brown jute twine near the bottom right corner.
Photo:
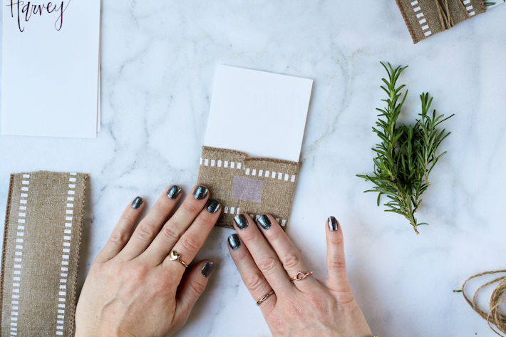
<svg viewBox="0 0 506 337">
<path fill-rule="evenodd" d="M 473 295 L 473 302 L 471 302 L 468 299 L 468 296 L 465 296 L 464 286 L 468 281 L 471 279 L 474 279 L 475 277 L 480 277 L 487 274 L 497 274 L 497 273 L 506 273 L 506 270 L 497 270 L 497 271 L 485 271 L 481 274 L 476 274 L 475 276 L 471 276 L 469 279 L 465 280 L 464 284 L 462 285 L 462 294 L 464 295 L 465 301 L 468 301 L 468 304 L 473 308 L 474 311 L 476 311 L 482 318 L 487 320 L 488 326 L 497 333 L 499 336 L 504 336 L 498 333 L 495 328 L 492 327 L 492 324 L 497 327 L 499 331 L 506 334 L 506 316 L 505 314 L 501 313 L 499 310 L 500 304 L 506 301 L 505 299 L 501 299 L 502 295 L 506 292 L 506 276 L 497 277 L 497 279 L 493 279 L 490 282 L 487 282 L 486 284 L 483 284 L 475 291 L 475 294 Z M 483 311 L 476 303 L 476 296 L 478 292 L 485 288 L 485 286 L 490 286 L 490 284 L 495 284 L 496 282 L 499 282 L 499 284 L 495 287 L 494 291 L 492 291 L 492 296 L 490 296 L 490 311 L 487 313 Z"/>
</svg>

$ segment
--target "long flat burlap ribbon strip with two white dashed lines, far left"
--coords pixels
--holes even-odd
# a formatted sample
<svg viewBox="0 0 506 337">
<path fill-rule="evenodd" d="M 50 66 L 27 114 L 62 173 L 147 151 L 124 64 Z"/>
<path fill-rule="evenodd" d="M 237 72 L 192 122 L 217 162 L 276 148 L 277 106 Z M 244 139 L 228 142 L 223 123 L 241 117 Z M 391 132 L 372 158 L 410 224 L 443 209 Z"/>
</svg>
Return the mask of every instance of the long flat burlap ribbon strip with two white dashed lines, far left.
<svg viewBox="0 0 506 337">
<path fill-rule="evenodd" d="M 1 258 L 1 336 L 73 336 L 88 175 L 11 175 Z"/>
</svg>

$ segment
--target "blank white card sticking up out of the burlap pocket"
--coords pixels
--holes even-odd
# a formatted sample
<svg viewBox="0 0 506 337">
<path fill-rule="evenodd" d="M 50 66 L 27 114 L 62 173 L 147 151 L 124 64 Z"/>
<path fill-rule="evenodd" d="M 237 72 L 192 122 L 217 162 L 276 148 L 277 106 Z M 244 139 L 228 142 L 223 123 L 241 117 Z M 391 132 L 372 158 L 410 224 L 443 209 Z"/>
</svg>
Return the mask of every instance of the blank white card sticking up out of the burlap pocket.
<svg viewBox="0 0 506 337">
<path fill-rule="evenodd" d="M 299 162 L 313 80 L 218 66 L 204 145 Z"/>
</svg>

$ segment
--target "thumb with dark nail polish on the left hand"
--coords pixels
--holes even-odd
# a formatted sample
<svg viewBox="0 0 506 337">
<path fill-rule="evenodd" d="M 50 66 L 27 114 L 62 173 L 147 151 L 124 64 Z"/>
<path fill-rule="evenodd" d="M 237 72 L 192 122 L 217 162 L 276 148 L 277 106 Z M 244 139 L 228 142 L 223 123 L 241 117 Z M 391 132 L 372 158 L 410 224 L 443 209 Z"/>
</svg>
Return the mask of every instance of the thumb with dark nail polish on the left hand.
<svg viewBox="0 0 506 337">
<path fill-rule="evenodd" d="M 177 290 L 177 306 L 175 317 L 182 322 L 186 322 L 190 311 L 192 311 L 195 302 L 204 292 L 207 286 L 207 280 L 215 264 L 210 260 L 200 261 L 192 266 L 190 271 L 182 279 Z"/>
</svg>

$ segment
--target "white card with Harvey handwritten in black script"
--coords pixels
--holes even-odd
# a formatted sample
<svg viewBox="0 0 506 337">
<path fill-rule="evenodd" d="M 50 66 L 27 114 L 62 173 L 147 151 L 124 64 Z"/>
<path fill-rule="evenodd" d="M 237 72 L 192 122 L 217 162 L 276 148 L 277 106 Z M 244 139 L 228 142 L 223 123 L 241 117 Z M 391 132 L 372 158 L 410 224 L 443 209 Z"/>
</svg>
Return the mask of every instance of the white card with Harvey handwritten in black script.
<svg viewBox="0 0 506 337">
<path fill-rule="evenodd" d="M 95 138 L 100 0 L 3 0 L 2 135 Z"/>
</svg>

